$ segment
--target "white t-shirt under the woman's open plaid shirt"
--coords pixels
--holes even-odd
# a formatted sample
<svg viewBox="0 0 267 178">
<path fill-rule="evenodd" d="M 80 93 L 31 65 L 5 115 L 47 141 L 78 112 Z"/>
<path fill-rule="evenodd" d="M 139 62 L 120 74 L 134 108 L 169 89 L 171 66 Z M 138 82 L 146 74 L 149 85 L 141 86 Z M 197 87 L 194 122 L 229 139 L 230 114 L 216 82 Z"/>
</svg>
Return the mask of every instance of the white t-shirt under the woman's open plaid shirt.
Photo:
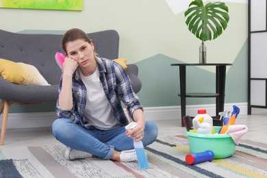
<svg viewBox="0 0 267 178">
<path fill-rule="evenodd" d="M 86 108 L 84 110 L 86 120 L 92 123 L 94 127 L 101 130 L 118 127 L 99 79 L 98 66 L 96 71 L 88 77 L 85 77 L 81 73 L 81 70 L 79 70 L 79 73 L 81 75 L 81 80 L 86 86 Z"/>
</svg>

